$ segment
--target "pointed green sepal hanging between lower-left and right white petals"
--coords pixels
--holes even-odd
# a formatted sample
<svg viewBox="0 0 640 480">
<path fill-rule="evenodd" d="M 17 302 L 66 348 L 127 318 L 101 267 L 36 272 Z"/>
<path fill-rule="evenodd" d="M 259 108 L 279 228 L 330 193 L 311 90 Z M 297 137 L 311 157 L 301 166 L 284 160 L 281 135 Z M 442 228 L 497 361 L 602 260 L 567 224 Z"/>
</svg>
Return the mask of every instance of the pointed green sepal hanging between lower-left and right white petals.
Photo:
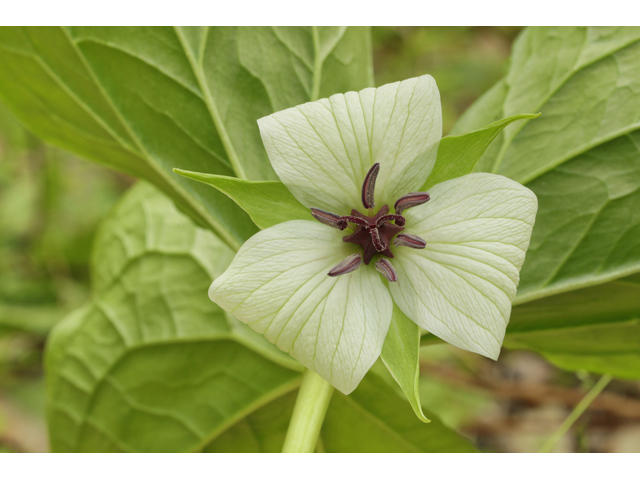
<svg viewBox="0 0 640 480">
<path fill-rule="evenodd" d="M 420 327 L 409 320 L 395 303 L 380 358 L 402 388 L 416 416 L 429 423 L 420 403 Z"/>
</svg>

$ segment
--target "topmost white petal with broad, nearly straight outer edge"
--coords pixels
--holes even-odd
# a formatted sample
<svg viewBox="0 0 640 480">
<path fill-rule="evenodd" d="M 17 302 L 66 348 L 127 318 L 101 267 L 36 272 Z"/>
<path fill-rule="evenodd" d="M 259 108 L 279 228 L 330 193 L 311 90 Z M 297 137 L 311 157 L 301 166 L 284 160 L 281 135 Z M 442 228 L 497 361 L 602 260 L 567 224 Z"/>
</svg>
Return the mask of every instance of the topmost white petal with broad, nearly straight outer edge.
<svg viewBox="0 0 640 480">
<path fill-rule="evenodd" d="M 333 95 L 258 120 L 271 164 L 307 207 L 360 208 L 366 173 L 379 162 L 377 205 L 420 189 L 442 137 L 440 94 L 430 75 Z"/>
</svg>

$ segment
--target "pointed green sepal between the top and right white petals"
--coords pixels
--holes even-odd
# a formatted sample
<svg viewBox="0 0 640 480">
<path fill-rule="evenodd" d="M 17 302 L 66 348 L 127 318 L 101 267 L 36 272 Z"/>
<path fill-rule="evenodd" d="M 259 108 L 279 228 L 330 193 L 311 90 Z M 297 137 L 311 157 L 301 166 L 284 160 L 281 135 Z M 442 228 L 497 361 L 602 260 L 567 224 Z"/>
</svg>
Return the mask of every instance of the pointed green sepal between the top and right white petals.
<svg viewBox="0 0 640 480">
<path fill-rule="evenodd" d="M 517 120 L 538 118 L 539 116 L 539 113 L 513 115 L 473 132 L 444 137 L 440 141 L 436 165 L 421 190 L 429 190 L 432 186 L 445 180 L 471 173 L 487 147 L 507 125 L 511 125 Z"/>
</svg>

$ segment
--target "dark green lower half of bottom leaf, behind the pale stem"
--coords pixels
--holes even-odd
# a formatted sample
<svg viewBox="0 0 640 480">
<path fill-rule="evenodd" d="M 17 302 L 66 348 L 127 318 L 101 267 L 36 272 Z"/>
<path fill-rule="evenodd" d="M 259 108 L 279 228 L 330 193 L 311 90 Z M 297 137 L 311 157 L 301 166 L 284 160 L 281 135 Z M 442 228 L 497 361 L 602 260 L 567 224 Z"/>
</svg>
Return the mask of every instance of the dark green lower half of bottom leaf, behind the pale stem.
<svg viewBox="0 0 640 480">
<path fill-rule="evenodd" d="M 280 452 L 296 400 L 295 392 L 263 406 L 230 427 L 206 452 Z M 365 376 L 351 395 L 333 394 L 319 452 L 474 452 L 470 442 L 437 418 L 418 421 L 377 375 Z"/>
</svg>

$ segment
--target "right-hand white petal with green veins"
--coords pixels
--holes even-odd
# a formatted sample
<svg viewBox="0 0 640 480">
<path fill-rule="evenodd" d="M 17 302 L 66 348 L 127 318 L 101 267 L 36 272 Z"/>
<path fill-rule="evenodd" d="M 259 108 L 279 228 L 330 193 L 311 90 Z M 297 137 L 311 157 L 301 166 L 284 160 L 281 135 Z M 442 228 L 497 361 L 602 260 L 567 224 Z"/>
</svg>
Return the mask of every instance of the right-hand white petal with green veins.
<svg viewBox="0 0 640 480">
<path fill-rule="evenodd" d="M 443 182 L 429 193 L 429 203 L 404 214 L 406 231 L 427 246 L 395 250 L 393 298 L 431 333 L 496 359 L 529 247 L 536 196 L 487 173 Z"/>
</svg>

